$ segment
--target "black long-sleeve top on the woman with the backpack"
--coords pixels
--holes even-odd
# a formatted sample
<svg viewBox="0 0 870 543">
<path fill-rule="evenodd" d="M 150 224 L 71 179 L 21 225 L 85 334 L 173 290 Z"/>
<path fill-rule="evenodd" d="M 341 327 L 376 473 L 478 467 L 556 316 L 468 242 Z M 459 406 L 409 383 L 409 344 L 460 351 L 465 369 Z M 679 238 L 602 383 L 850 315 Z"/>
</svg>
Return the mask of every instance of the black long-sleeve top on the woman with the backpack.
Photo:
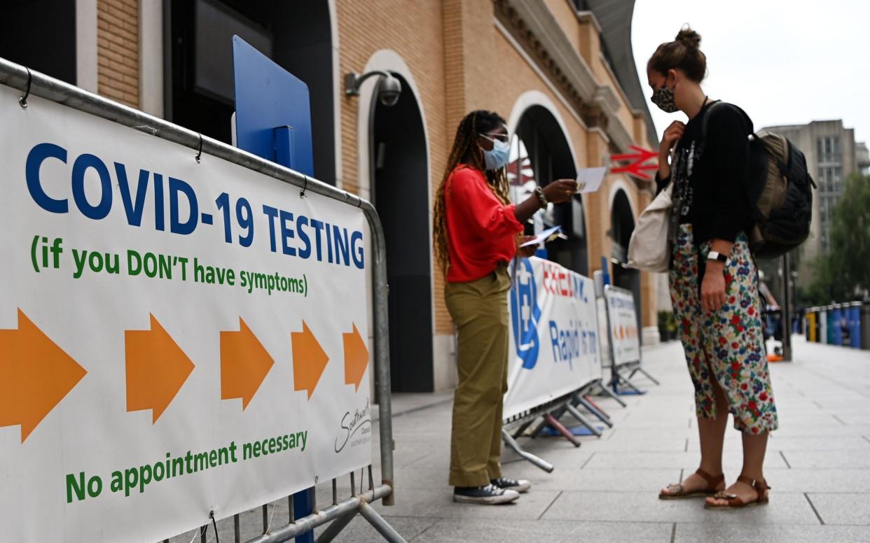
<svg viewBox="0 0 870 543">
<path fill-rule="evenodd" d="M 749 175 L 749 140 L 752 121 L 740 109 L 712 103 L 686 123 L 677 152 L 682 166 L 672 168 L 672 174 L 688 177 L 680 212 L 680 222 L 692 224 L 696 246 L 711 239 L 734 242 L 741 231 L 753 227 L 751 203 L 746 190 Z M 706 142 L 702 142 L 701 127 L 710 115 Z M 661 179 L 656 174 L 658 189 L 665 189 L 671 177 Z M 674 186 L 676 194 L 677 188 Z"/>
</svg>

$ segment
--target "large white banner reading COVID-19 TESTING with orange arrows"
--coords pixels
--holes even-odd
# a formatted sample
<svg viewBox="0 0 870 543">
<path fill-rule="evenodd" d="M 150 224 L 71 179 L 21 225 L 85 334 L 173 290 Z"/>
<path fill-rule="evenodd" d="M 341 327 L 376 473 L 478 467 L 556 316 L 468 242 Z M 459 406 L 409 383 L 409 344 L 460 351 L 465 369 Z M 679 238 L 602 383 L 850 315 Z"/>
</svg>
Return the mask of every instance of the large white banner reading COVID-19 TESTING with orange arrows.
<svg viewBox="0 0 870 543">
<path fill-rule="evenodd" d="M 0 518 L 157 541 L 371 463 L 365 217 L 0 85 Z"/>
</svg>

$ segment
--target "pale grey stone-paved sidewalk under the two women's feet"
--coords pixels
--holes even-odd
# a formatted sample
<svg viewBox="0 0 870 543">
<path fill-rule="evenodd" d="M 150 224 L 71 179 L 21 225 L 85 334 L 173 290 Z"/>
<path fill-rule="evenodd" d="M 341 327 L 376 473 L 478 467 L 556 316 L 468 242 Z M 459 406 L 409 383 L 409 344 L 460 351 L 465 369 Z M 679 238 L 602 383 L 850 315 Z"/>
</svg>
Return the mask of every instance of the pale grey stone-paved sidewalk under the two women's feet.
<svg viewBox="0 0 870 543">
<path fill-rule="evenodd" d="M 581 438 L 579 448 L 561 438 L 520 440 L 555 471 L 505 453 L 505 474 L 533 483 L 532 492 L 507 506 L 452 502 L 451 395 L 397 395 L 395 411 L 405 414 L 393 419 L 396 506 L 376 508 L 415 543 L 870 541 L 870 353 L 807 344 L 798 336 L 794 343 L 796 361 L 772 365 L 780 430 L 767 451 L 773 491 L 766 507 L 710 512 L 701 500 L 657 499 L 659 488 L 691 473 L 699 461 L 692 384 L 679 343 L 670 343 L 645 351 L 645 367 L 661 386 L 639 377 L 648 394 L 624 396 L 627 408 L 600 399 L 615 421 L 602 438 Z M 563 421 L 573 424 L 570 415 Z M 740 459 L 740 434 L 729 427 L 729 484 L 740 473 Z M 318 501 L 328 500 L 331 487 L 318 487 Z M 285 501 L 270 514 L 280 519 L 276 525 L 284 523 Z M 260 517 L 259 511 L 249 514 L 245 531 L 258 529 Z M 231 531 L 226 537 L 231 540 Z M 360 518 L 338 538 L 379 540 Z"/>
</svg>

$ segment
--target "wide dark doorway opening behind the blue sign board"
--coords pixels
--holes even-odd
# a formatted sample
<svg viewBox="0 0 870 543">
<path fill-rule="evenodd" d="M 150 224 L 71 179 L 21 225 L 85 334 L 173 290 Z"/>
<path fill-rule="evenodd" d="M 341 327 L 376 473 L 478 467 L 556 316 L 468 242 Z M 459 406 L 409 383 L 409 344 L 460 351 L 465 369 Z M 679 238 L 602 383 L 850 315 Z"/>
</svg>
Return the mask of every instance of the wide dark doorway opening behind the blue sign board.
<svg viewBox="0 0 870 543">
<path fill-rule="evenodd" d="M 231 142 L 232 36 L 308 85 L 314 176 L 335 183 L 335 84 L 328 0 L 166 0 L 164 116 Z"/>
</svg>

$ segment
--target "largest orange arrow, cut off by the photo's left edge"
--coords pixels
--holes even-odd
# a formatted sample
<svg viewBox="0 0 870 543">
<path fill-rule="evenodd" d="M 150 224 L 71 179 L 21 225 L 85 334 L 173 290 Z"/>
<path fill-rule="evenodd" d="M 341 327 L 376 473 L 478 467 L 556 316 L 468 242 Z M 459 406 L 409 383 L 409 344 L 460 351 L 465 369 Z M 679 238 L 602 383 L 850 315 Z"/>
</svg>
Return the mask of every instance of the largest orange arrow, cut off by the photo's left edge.
<svg viewBox="0 0 870 543">
<path fill-rule="evenodd" d="M 0 330 L 0 427 L 20 424 L 23 443 L 87 373 L 18 309 Z"/>
</svg>

